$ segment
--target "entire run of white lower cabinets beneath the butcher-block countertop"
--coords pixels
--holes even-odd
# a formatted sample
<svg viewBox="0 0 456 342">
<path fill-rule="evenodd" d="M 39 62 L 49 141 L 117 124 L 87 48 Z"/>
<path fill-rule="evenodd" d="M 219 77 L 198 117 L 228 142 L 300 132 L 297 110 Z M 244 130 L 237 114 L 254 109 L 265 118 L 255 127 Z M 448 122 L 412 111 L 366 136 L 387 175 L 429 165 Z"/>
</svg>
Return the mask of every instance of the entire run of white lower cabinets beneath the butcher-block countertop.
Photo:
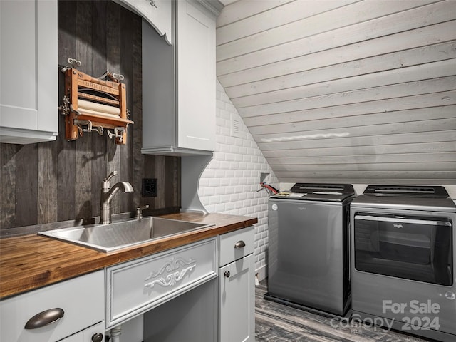
<svg viewBox="0 0 456 342">
<path fill-rule="evenodd" d="M 248 227 L 1 300 L 0 341 L 253 342 L 253 253 Z"/>
</svg>

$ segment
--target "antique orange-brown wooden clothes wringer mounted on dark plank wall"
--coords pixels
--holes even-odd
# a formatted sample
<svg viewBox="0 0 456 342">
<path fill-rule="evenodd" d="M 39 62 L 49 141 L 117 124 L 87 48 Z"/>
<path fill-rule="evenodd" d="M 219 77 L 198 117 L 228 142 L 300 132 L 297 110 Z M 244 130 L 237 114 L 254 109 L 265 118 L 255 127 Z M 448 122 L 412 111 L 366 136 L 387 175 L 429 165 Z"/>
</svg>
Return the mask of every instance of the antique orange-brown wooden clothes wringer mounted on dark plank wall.
<svg viewBox="0 0 456 342">
<path fill-rule="evenodd" d="M 112 81 L 94 78 L 76 68 L 65 71 L 65 95 L 62 111 L 65 118 L 65 138 L 76 140 L 83 132 L 104 131 L 116 144 L 127 142 L 128 119 L 125 84 L 111 77 Z M 110 131 L 112 130 L 112 132 Z"/>
</svg>

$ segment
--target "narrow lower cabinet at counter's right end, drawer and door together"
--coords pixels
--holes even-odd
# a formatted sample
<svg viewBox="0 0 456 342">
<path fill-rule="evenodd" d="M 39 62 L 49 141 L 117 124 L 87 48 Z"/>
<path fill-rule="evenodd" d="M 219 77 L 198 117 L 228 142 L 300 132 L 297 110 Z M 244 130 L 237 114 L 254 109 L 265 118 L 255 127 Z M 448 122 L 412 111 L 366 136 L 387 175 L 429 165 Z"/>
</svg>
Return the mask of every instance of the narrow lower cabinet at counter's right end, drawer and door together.
<svg viewBox="0 0 456 342">
<path fill-rule="evenodd" d="M 219 342 L 254 342 L 254 227 L 221 235 L 219 251 Z"/>
</svg>

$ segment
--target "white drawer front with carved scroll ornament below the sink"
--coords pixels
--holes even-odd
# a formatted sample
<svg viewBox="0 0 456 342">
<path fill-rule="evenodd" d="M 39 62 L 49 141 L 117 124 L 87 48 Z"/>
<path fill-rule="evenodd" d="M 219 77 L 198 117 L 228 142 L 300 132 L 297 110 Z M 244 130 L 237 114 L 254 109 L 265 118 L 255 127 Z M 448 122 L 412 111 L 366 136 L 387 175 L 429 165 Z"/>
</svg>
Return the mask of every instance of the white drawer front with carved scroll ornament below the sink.
<svg viewBox="0 0 456 342">
<path fill-rule="evenodd" d="M 106 269 L 106 328 L 217 277 L 217 238 Z"/>
</svg>

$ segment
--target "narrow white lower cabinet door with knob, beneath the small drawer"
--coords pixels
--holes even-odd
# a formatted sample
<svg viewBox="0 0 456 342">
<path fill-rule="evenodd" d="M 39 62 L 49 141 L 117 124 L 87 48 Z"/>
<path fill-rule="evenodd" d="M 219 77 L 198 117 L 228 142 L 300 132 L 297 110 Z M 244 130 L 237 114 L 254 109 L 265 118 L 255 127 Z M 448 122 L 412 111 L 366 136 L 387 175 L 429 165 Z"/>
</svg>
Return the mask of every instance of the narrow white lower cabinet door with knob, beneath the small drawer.
<svg viewBox="0 0 456 342">
<path fill-rule="evenodd" d="M 255 341 L 254 254 L 220 268 L 219 342 Z"/>
</svg>

